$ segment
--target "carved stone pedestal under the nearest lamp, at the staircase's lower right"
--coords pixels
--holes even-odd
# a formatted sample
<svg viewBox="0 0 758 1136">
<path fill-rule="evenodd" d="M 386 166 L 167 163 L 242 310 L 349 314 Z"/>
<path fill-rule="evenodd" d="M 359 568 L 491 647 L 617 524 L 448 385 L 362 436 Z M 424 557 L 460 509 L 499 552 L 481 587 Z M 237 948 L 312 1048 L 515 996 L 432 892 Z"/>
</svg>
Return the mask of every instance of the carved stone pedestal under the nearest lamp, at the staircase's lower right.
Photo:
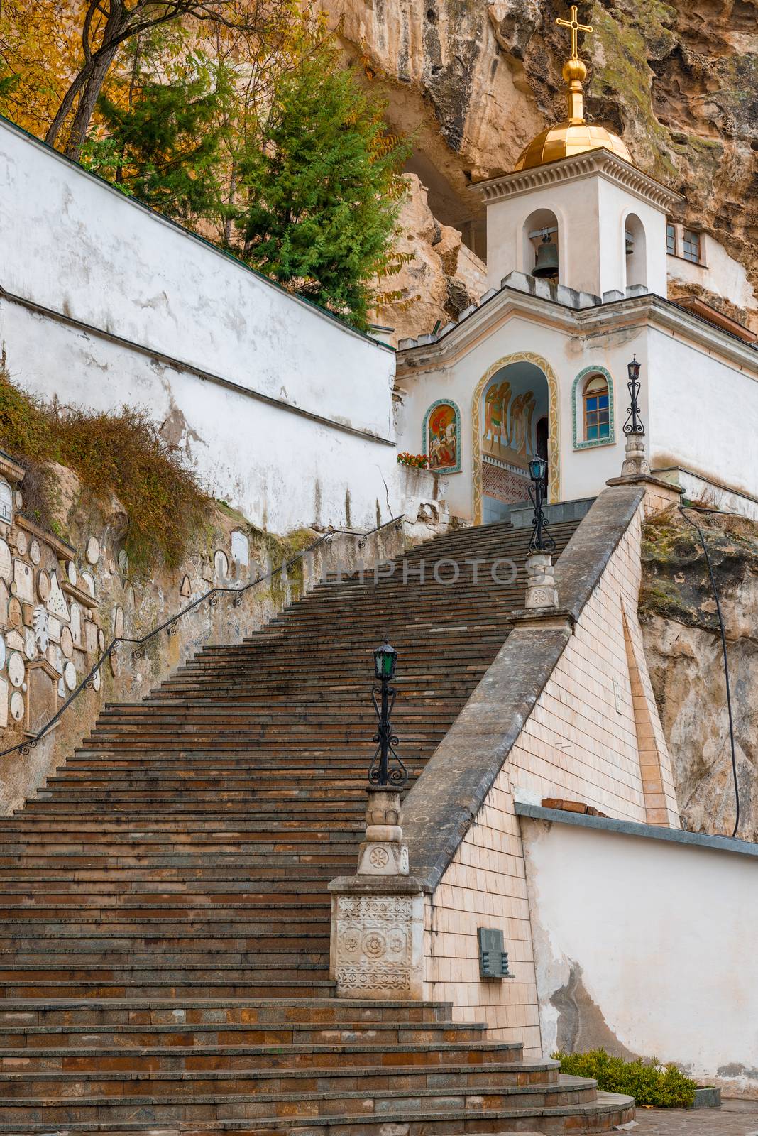
<svg viewBox="0 0 758 1136">
<path fill-rule="evenodd" d="M 397 790 L 369 788 L 357 874 L 329 884 L 338 997 L 423 997 L 423 893 L 409 876 L 399 801 Z"/>
</svg>

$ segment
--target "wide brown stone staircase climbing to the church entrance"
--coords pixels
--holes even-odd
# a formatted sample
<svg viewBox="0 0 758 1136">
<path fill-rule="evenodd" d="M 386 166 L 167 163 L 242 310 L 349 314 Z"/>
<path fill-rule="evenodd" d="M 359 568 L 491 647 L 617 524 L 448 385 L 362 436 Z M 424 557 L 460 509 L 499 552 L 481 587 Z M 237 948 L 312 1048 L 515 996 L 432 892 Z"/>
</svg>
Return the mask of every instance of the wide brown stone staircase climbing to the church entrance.
<svg viewBox="0 0 758 1136">
<path fill-rule="evenodd" d="M 572 524 L 554 526 L 558 549 Z M 413 780 L 505 640 L 529 532 L 464 529 L 207 648 L 0 819 L 0 1133 L 606 1131 L 631 1102 L 444 1003 L 332 997 L 327 884 L 363 829 L 371 652 Z M 460 562 L 435 583 L 436 559 Z M 483 560 L 472 586 L 469 558 Z M 419 582 L 421 561 L 428 580 Z M 450 571 L 448 566 L 445 574 Z M 407 583 L 403 584 L 403 574 Z"/>
</svg>

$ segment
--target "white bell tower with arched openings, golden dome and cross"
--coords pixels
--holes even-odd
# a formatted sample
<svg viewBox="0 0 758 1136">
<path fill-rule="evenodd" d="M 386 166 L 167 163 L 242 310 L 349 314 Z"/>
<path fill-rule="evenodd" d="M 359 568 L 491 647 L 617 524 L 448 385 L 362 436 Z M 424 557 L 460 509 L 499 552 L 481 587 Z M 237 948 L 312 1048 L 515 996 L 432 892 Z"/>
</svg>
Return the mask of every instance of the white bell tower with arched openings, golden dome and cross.
<svg viewBox="0 0 758 1136">
<path fill-rule="evenodd" d="M 473 186 L 487 207 L 489 287 L 519 272 L 603 298 L 628 289 L 666 294 L 666 215 L 677 193 L 639 170 L 617 134 L 584 118 L 581 24 L 564 64 L 566 118 L 533 139 L 513 173 Z"/>
</svg>

